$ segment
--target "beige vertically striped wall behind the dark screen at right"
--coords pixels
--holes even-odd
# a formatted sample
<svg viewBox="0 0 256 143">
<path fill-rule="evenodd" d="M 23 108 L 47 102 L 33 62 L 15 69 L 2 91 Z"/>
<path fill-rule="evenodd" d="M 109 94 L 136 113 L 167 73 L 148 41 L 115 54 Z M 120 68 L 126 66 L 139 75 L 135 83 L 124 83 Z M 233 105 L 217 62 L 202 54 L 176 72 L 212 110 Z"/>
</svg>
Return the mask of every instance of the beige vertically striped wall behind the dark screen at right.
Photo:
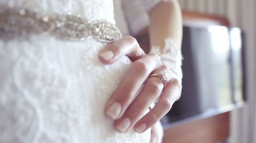
<svg viewBox="0 0 256 143">
<path fill-rule="evenodd" d="M 225 16 L 246 34 L 248 102 L 231 112 L 230 143 L 256 143 L 256 1 L 178 0 L 183 10 Z"/>
</svg>

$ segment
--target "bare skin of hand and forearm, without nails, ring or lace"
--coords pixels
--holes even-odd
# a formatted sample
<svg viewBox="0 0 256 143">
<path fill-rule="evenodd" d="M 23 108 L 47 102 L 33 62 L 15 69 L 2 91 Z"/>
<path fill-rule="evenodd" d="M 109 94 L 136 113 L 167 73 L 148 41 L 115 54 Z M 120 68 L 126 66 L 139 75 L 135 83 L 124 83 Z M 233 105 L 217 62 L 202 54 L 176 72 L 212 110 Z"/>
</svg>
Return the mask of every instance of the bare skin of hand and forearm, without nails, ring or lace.
<svg viewBox="0 0 256 143">
<path fill-rule="evenodd" d="M 181 45 L 182 18 L 177 1 L 160 2 L 149 13 L 149 16 L 151 45 L 163 47 L 165 44 L 164 39 L 169 37 L 176 39 L 178 44 Z M 159 55 L 154 53 L 145 54 L 136 39 L 131 36 L 124 36 L 116 42 L 109 43 L 100 53 L 109 50 L 114 53 L 114 56 L 109 60 L 104 60 L 99 55 L 102 63 L 112 64 L 123 55 L 127 55 L 133 63 L 106 103 L 105 112 L 108 111 L 113 103 L 119 103 L 121 105 L 121 111 L 113 119 L 115 120 L 115 128 L 117 129 L 117 126 L 123 119 L 129 118 L 131 125 L 127 130 L 132 127 L 135 129 L 141 124 L 146 124 L 146 128 L 142 131 L 144 132 L 148 128 L 153 127 L 172 108 L 173 103 L 179 99 L 182 89 L 181 81 L 172 77 L 169 68 L 161 64 Z M 163 82 L 159 78 L 148 78 L 150 75 L 158 73 L 167 73 L 170 76 L 170 80 L 164 89 Z M 141 85 L 143 85 L 143 88 L 135 98 Z M 143 116 L 143 113 L 157 99 L 158 102 L 155 107 Z M 154 139 L 156 138 L 154 137 L 156 136 L 155 128 L 152 128 L 152 131 L 153 136 L 151 142 L 157 142 Z"/>
</svg>

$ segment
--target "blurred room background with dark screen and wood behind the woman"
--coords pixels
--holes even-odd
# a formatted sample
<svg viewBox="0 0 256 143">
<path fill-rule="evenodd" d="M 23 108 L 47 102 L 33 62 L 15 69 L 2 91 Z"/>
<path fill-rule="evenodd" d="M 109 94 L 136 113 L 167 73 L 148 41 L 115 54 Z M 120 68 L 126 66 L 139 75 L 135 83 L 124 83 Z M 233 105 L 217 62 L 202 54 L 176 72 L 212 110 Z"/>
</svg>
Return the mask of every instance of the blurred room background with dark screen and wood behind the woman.
<svg viewBox="0 0 256 143">
<path fill-rule="evenodd" d="M 256 143 L 256 1 L 178 1 L 183 90 L 161 120 L 163 142 Z M 114 0 L 116 24 L 148 49 L 146 13 L 132 5 Z"/>
</svg>

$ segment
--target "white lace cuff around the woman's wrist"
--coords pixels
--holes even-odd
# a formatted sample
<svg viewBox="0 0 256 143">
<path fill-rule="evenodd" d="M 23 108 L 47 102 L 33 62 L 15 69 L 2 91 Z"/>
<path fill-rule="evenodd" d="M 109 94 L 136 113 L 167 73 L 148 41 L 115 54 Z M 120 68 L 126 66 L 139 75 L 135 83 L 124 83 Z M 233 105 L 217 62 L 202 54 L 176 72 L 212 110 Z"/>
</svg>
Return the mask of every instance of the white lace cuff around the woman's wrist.
<svg viewBox="0 0 256 143">
<path fill-rule="evenodd" d="M 163 65 L 169 67 L 172 77 L 177 78 L 180 83 L 182 82 L 182 55 L 181 49 L 177 42 L 173 38 L 167 38 L 164 40 L 164 48 L 158 46 L 152 46 L 150 53 L 156 53 L 160 56 Z"/>
</svg>

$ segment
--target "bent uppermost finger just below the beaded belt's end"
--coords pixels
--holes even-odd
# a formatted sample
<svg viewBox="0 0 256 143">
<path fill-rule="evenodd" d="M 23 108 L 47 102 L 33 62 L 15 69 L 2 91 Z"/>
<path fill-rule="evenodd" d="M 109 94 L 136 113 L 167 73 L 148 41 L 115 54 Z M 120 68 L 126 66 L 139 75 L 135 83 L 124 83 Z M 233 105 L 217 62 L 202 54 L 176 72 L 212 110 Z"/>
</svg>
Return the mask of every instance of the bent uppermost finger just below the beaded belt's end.
<svg viewBox="0 0 256 143">
<path fill-rule="evenodd" d="M 137 40 L 131 36 L 124 36 L 120 40 L 109 43 L 99 53 L 99 59 L 104 64 L 116 62 L 121 56 L 127 55 L 132 61 L 141 58 L 144 51 Z"/>
</svg>

